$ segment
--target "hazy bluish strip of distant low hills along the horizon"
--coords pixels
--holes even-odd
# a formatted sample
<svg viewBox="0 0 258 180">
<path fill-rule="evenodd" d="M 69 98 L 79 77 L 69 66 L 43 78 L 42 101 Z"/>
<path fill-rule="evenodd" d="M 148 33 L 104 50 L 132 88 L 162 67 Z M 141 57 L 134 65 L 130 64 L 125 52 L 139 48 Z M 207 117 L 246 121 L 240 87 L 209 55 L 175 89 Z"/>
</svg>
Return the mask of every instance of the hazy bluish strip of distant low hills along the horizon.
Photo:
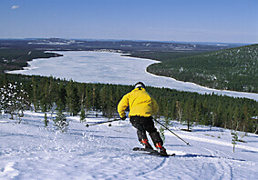
<svg viewBox="0 0 258 180">
<path fill-rule="evenodd" d="M 0 39 L 0 49 L 30 49 L 30 50 L 73 50 L 90 51 L 96 49 L 121 50 L 125 53 L 140 51 L 217 51 L 240 46 L 238 44 L 215 43 L 179 43 L 151 42 L 129 40 L 83 40 L 60 38 L 35 39 Z"/>
</svg>

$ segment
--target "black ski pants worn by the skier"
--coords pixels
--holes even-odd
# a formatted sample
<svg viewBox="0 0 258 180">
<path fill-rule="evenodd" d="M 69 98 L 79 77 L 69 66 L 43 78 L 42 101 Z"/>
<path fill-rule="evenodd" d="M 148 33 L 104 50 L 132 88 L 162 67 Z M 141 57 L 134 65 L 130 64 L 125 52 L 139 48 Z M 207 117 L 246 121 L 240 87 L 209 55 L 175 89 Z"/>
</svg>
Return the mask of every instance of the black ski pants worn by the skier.
<svg viewBox="0 0 258 180">
<path fill-rule="evenodd" d="M 146 135 L 146 132 L 148 132 L 154 145 L 156 145 L 157 143 L 160 143 L 161 145 L 163 145 L 163 141 L 160 137 L 160 133 L 155 128 L 154 122 L 151 116 L 150 117 L 130 116 L 129 121 L 131 125 L 137 129 L 139 142 L 141 142 L 141 139 L 148 139 Z"/>
</svg>

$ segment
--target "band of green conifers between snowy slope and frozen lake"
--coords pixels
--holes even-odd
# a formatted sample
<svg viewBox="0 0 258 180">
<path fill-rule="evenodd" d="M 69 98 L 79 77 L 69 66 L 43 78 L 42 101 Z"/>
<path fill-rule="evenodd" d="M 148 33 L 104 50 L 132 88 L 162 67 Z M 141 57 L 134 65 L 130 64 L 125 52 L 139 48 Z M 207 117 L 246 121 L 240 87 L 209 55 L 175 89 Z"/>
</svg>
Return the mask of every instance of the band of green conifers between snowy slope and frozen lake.
<svg viewBox="0 0 258 180">
<path fill-rule="evenodd" d="M 15 84 L 23 88 L 35 111 L 58 110 L 69 115 L 88 115 L 95 110 L 107 116 L 117 114 L 117 105 L 123 95 L 129 93 L 130 85 L 85 84 L 37 75 L 2 75 L 0 87 Z M 257 131 L 253 116 L 258 115 L 258 102 L 246 98 L 232 98 L 221 95 L 199 95 L 168 88 L 147 87 L 158 102 L 160 110 L 156 118 L 213 125 L 245 132 Z M 3 109 L 3 107 L 2 107 Z M 101 113 L 100 113 L 101 112 Z M 47 124 L 47 122 L 46 122 Z"/>
</svg>

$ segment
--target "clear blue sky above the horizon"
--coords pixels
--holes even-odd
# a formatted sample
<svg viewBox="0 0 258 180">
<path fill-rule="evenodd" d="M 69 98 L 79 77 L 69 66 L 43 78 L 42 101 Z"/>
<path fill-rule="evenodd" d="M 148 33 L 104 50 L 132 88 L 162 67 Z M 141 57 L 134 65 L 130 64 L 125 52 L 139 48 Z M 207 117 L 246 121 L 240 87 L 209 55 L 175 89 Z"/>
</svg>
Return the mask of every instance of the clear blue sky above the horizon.
<svg viewBox="0 0 258 180">
<path fill-rule="evenodd" d="M 258 43 L 258 0 L 0 0 L 0 38 Z"/>
</svg>

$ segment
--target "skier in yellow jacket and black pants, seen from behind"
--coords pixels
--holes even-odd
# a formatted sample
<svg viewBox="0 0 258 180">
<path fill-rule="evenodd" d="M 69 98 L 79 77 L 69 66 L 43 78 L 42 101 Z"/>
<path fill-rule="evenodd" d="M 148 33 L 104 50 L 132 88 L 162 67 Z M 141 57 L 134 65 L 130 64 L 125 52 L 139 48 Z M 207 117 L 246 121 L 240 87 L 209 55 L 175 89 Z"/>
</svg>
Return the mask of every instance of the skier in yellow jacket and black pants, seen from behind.
<svg viewBox="0 0 258 180">
<path fill-rule="evenodd" d="M 153 149 L 150 145 L 146 132 L 149 133 L 153 144 L 161 154 L 167 155 L 163 147 L 163 141 L 160 133 L 154 126 L 152 115 L 157 113 L 159 106 L 154 98 L 145 90 L 145 85 L 138 82 L 134 89 L 127 95 L 124 95 L 118 105 L 120 118 L 127 118 L 125 110 L 129 106 L 129 121 L 137 129 L 139 142 L 148 149 Z"/>
</svg>

